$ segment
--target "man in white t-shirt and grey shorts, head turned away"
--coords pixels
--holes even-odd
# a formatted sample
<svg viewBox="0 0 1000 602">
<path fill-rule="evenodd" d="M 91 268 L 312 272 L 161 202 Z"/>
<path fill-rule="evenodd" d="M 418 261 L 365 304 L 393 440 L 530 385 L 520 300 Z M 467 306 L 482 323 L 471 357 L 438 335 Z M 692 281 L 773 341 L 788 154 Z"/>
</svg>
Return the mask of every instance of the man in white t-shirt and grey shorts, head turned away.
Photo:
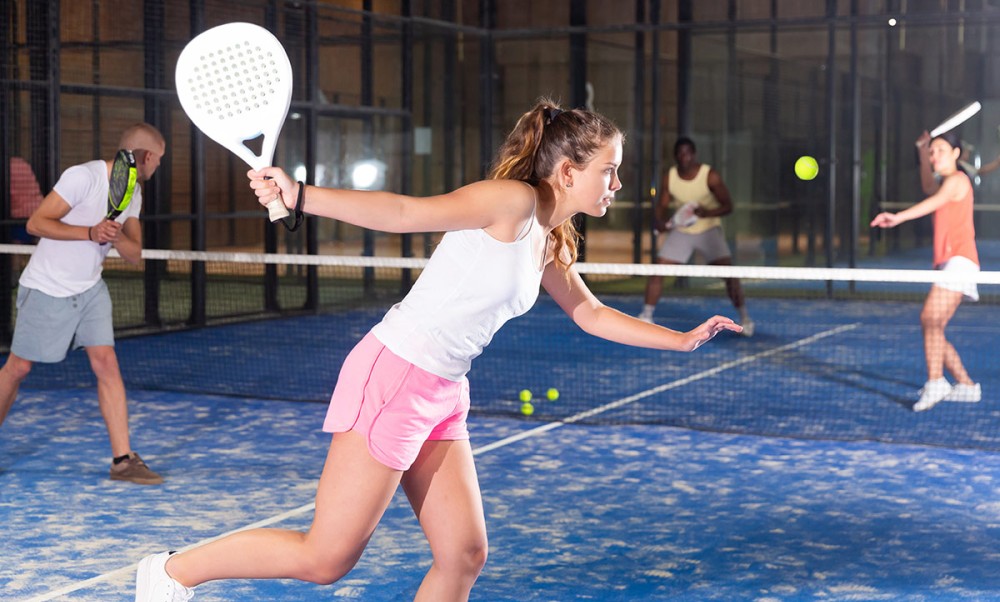
<svg viewBox="0 0 1000 602">
<path fill-rule="evenodd" d="M 153 177 L 166 152 L 163 135 L 139 123 L 127 128 L 119 148 L 133 152 L 139 182 Z M 0 369 L 0 424 L 34 362 L 55 363 L 84 348 L 97 377 L 97 399 L 111 439 L 111 478 L 147 485 L 163 482 L 132 451 L 125 384 L 118 368 L 111 296 L 101 278 L 111 248 L 129 263 L 142 256 L 139 188 L 115 220 L 105 219 L 113 161 L 70 167 L 28 220 L 38 247 L 21 273 L 17 321 L 7 362 Z"/>
</svg>

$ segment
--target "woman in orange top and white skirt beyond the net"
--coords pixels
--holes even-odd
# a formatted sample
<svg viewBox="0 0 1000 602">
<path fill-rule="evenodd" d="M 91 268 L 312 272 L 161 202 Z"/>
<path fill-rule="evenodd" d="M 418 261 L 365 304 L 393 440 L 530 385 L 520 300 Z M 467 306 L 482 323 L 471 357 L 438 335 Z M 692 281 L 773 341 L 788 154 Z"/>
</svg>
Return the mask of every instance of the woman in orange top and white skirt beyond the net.
<svg viewBox="0 0 1000 602">
<path fill-rule="evenodd" d="M 926 199 L 899 213 L 880 213 L 872 220 L 873 228 L 893 228 L 899 224 L 934 214 L 934 268 L 948 272 L 979 271 L 976 232 L 972 223 L 972 182 L 958 167 L 962 146 L 958 136 L 946 132 L 933 140 L 927 132 L 917 139 L 920 152 L 921 183 Z M 934 173 L 940 176 L 935 181 Z M 941 401 L 976 402 L 982 398 L 979 384 L 969 378 L 955 347 L 944 336 L 948 320 L 955 314 L 962 298 L 979 300 L 975 282 L 944 282 L 931 287 L 920 313 L 924 331 L 924 355 L 927 359 L 927 382 L 920 390 L 915 412 L 929 410 Z M 955 378 L 952 386 L 944 369 Z"/>
</svg>

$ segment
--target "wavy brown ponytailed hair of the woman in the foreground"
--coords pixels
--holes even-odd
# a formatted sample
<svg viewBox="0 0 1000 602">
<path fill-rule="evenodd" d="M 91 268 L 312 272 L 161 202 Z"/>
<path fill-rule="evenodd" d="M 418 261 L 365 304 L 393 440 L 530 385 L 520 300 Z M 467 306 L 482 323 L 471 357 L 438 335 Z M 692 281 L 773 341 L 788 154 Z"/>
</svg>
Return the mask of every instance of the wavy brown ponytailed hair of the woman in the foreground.
<svg viewBox="0 0 1000 602">
<path fill-rule="evenodd" d="M 547 98 L 521 116 L 497 152 L 491 180 L 521 180 L 537 186 L 556 170 L 562 159 L 582 169 L 605 144 L 622 137 L 607 117 L 586 109 L 563 111 Z M 556 265 L 576 261 L 580 233 L 568 219 L 552 233 Z"/>
</svg>

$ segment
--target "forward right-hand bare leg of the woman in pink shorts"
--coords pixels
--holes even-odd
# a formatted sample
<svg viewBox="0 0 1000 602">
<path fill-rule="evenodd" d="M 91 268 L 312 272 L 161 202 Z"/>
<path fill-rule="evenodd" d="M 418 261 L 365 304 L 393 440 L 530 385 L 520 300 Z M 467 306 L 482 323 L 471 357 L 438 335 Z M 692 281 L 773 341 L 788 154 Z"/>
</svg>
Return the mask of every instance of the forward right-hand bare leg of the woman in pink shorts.
<svg viewBox="0 0 1000 602">
<path fill-rule="evenodd" d="M 415 599 L 468 600 L 488 549 L 469 441 L 424 443 L 402 484 L 434 555 Z"/>
</svg>

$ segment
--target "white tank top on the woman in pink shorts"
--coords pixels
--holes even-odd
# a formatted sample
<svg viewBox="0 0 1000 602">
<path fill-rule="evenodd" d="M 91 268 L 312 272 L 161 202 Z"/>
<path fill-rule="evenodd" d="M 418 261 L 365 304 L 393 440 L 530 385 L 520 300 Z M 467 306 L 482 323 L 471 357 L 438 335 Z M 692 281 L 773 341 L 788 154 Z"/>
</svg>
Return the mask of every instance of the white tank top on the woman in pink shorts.
<svg viewBox="0 0 1000 602">
<path fill-rule="evenodd" d="M 461 381 L 500 327 L 538 299 L 536 230 L 533 210 L 514 242 L 481 229 L 448 232 L 410 292 L 372 333 L 413 365 Z"/>
</svg>

